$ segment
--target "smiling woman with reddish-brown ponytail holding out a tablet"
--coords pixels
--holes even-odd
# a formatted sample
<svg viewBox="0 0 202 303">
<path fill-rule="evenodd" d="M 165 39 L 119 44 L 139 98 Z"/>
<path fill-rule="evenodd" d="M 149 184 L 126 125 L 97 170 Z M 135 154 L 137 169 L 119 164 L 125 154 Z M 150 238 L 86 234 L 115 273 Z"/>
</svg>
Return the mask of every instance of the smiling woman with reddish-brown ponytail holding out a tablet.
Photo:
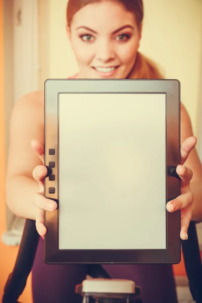
<svg viewBox="0 0 202 303">
<path fill-rule="evenodd" d="M 142 19 L 142 0 L 69 0 L 67 33 L 80 70 L 73 78 L 163 78 L 155 64 L 138 53 Z M 181 165 L 177 167 L 182 179 L 181 195 L 170 201 L 166 208 L 169 212 L 181 209 L 180 237 L 185 240 L 193 211 L 193 195 L 193 219 L 202 218 L 202 169 L 194 149 L 196 138 L 192 136 L 183 105 L 181 123 L 184 142 Z M 43 92 L 23 96 L 16 104 L 11 120 L 7 203 L 17 216 L 36 220 L 41 236 L 46 233 L 43 210 L 55 211 L 57 208 L 54 201 L 43 196 L 43 179 L 47 174 L 43 166 L 43 128 Z M 186 166 L 183 166 L 185 161 Z M 104 268 L 112 278 L 134 280 L 141 287 L 144 303 L 177 302 L 171 265 L 105 265 Z M 34 302 L 80 302 L 74 288 L 85 275 L 84 265 L 44 264 L 41 238 L 32 271 Z"/>
</svg>

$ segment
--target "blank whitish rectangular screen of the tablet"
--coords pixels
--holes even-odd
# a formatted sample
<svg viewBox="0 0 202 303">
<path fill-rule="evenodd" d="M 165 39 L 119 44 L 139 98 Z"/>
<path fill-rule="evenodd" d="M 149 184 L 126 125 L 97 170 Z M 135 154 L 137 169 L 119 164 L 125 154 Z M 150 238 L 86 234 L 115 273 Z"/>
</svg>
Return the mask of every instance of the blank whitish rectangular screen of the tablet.
<svg viewBox="0 0 202 303">
<path fill-rule="evenodd" d="M 166 248 L 166 95 L 59 94 L 59 249 Z"/>
</svg>

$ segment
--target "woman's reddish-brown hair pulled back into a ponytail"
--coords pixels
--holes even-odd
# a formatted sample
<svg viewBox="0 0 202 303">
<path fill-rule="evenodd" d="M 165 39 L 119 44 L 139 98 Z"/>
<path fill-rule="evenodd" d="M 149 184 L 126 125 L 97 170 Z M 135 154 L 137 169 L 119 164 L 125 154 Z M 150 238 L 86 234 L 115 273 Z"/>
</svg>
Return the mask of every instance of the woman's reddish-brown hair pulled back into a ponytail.
<svg viewBox="0 0 202 303">
<path fill-rule="evenodd" d="M 103 0 L 69 0 L 67 5 L 67 24 L 70 27 L 71 21 L 81 8 L 85 7 L 88 4 L 101 2 Z M 108 0 L 109 1 L 109 0 Z M 118 1 L 127 11 L 133 13 L 136 18 L 137 26 L 140 28 L 144 10 L 142 0 L 111 0 Z M 162 79 L 164 78 L 161 72 L 159 71 L 155 62 L 143 56 L 140 52 L 137 52 L 135 64 L 131 69 L 127 79 Z"/>
</svg>

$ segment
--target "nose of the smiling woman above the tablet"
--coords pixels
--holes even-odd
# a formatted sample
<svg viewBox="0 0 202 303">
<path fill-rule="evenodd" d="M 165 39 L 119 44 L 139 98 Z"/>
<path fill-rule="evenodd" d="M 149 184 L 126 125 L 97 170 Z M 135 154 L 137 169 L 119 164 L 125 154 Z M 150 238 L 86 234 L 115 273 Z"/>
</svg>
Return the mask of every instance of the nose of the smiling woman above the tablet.
<svg viewBox="0 0 202 303">
<path fill-rule="evenodd" d="M 96 57 L 103 62 L 111 61 L 115 58 L 115 49 L 113 43 L 109 41 L 102 41 L 97 45 Z"/>
</svg>

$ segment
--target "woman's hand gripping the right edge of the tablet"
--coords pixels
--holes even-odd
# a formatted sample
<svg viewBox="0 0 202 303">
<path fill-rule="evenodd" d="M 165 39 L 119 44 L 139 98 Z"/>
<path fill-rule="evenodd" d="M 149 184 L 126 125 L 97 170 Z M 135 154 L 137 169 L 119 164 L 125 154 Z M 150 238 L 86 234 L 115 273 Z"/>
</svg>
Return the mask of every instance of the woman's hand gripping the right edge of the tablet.
<svg viewBox="0 0 202 303">
<path fill-rule="evenodd" d="M 193 193 L 190 189 L 190 180 L 193 176 L 193 172 L 189 167 L 186 167 L 183 164 L 187 160 L 190 151 L 194 148 L 196 142 L 196 137 L 191 136 L 184 140 L 181 145 L 180 165 L 178 165 L 176 169 L 176 172 L 181 179 L 181 194 L 177 198 L 169 201 L 166 205 L 167 211 L 171 213 L 181 210 L 180 238 L 182 240 L 188 239 L 187 229 L 193 212 Z"/>
</svg>

